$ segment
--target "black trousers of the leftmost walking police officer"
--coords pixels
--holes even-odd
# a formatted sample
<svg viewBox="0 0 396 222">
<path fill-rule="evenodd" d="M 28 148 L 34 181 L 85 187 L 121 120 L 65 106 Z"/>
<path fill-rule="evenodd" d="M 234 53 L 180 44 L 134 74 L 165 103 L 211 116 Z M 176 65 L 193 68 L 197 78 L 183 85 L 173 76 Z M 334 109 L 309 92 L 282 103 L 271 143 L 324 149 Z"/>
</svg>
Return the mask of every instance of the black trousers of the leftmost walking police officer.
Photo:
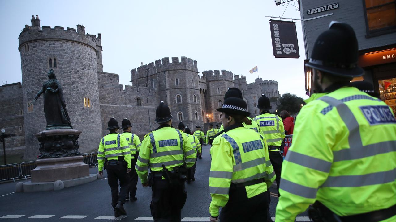
<svg viewBox="0 0 396 222">
<path fill-rule="evenodd" d="M 128 194 L 128 175 L 126 166 L 122 162 L 118 165 L 106 165 L 107 182 L 111 188 L 111 205 L 116 207 L 118 201 L 125 203 Z M 120 181 L 120 192 L 118 192 L 118 181 Z"/>
</svg>

